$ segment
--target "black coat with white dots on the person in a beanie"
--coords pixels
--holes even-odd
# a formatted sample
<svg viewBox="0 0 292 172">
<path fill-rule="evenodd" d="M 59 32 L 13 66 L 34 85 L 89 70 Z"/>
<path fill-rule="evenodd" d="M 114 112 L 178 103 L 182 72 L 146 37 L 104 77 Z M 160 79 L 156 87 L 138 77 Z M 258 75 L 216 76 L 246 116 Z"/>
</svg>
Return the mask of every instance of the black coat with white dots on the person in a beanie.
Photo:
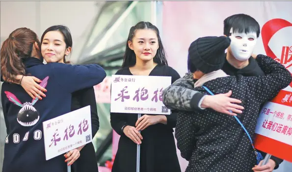
<svg viewBox="0 0 292 172">
<path fill-rule="evenodd" d="M 213 94 L 232 90 L 233 98 L 242 101 L 245 109 L 238 118 L 251 136 L 261 104 L 292 80 L 289 71 L 273 59 L 258 55 L 257 61 L 266 75 L 221 77 L 204 84 Z M 176 83 L 184 86 L 182 81 Z M 208 95 L 203 87 L 194 90 Z M 180 112 L 175 136 L 182 157 L 189 161 L 186 172 L 251 172 L 256 164 L 250 141 L 236 119 L 212 109 Z"/>
</svg>

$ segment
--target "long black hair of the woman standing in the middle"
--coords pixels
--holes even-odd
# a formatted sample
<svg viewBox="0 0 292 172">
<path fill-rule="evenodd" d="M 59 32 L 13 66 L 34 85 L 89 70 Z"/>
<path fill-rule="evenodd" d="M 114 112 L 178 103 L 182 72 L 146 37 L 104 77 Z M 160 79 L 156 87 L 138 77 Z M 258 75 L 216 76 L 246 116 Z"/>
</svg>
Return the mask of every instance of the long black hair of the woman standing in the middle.
<svg viewBox="0 0 292 172">
<path fill-rule="evenodd" d="M 132 67 L 136 64 L 136 55 L 132 49 L 130 49 L 128 45 L 128 41 L 133 41 L 133 37 L 135 35 L 135 31 L 138 29 L 151 29 L 156 32 L 158 38 L 159 48 L 157 49 L 157 53 L 153 58 L 153 61 L 159 65 L 168 65 L 167 60 L 165 58 L 165 50 L 163 48 L 161 38 L 159 36 L 159 30 L 155 25 L 152 25 L 150 22 L 139 22 L 136 25 L 132 26 L 130 29 L 130 33 L 128 36 L 128 40 L 126 43 L 126 51 L 124 55 L 124 61 L 122 68 Z"/>
</svg>

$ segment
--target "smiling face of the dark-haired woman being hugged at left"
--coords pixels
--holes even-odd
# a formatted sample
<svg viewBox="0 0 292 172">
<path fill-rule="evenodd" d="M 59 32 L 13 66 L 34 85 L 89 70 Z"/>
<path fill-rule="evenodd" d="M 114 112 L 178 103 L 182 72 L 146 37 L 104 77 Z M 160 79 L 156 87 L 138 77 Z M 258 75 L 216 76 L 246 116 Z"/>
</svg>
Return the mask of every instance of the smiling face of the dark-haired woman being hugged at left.
<svg viewBox="0 0 292 172">
<path fill-rule="evenodd" d="M 64 36 L 61 32 L 49 31 L 42 40 L 41 51 L 47 63 L 63 63 L 65 55 L 71 52 L 71 47 L 66 48 Z"/>
</svg>

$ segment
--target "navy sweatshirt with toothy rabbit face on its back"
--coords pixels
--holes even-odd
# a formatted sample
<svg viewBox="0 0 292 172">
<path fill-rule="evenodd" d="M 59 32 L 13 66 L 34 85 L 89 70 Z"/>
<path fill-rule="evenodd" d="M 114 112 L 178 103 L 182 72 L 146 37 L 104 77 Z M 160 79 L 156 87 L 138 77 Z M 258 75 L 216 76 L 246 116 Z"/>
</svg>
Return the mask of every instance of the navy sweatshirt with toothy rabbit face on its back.
<svg viewBox="0 0 292 172">
<path fill-rule="evenodd" d="M 98 65 L 69 65 L 62 63 L 43 64 L 37 58 L 24 62 L 26 73 L 39 79 L 49 76 L 46 98 L 32 107 L 20 107 L 8 99 L 13 94 L 20 104 L 30 103 L 32 98 L 17 84 L 4 82 L 1 88 L 1 102 L 7 128 L 4 148 L 3 172 L 65 172 L 63 154 L 46 160 L 43 139 L 43 122 L 71 111 L 72 93 L 99 84 L 106 72 Z M 15 97 L 12 97 L 15 99 Z M 26 113 L 21 109 L 27 109 Z M 16 136 L 16 137 L 15 137 Z M 27 138 L 26 138 L 27 137 Z M 61 136 L 58 136 L 61 137 Z"/>
</svg>

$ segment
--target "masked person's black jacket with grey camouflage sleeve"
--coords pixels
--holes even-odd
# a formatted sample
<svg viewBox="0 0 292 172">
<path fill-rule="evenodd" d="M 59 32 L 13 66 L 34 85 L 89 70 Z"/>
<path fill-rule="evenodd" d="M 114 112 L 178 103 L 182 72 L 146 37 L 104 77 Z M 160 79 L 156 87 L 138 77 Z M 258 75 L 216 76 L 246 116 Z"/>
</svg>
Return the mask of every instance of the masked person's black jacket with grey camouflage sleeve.
<svg viewBox="0 0 292 172">
<path fill-rule="evenodd" d="M 228 75 L 243 75 L 243 76 L 260 76 L 265 75 L 263 70 L 258 65 L 257 61 L 253 58 L 249 58 L 249 64 L 242 68 L 237 69 L 232 66 L 227 60 L 225 61 L 222 70 Z M 184 82 L 183 86 L 180 83 Z M 194 90 L 194 80 L 192 79 L 192 74 L 187 73 L 186 76 L 179 79 L 175 84 L 167 87 L 163 91 L 163 103 L 169 109 L 184 110 L 184 111 L 195 111 L 200 109 L 198 104 L 203 98 L 204 94 Z M 265 103 L 264 103 L 265 104 Z M 260 107 L 260 110 L 262 106 Z M 258 150 L 265 157 L 266 153 Z M 275 161 L 277 169 L 279 165 L 283 162 L 282 159 L 275 156 L 271 156 L 272 160 Z"/>
</svg>

